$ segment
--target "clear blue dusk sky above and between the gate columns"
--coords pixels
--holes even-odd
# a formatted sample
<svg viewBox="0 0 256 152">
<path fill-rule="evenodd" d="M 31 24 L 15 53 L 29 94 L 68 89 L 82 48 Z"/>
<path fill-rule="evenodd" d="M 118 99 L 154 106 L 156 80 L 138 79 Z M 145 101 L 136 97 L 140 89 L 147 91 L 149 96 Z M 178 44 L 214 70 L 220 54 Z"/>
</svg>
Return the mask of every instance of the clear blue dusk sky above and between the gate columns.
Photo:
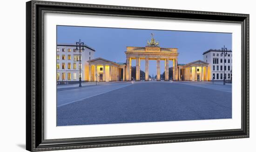
<svg viewBox="0 0 256 152">
<path fill-rule="evenodd" d="M 57 44 L 82 42 L 94 48 L 94 57 L 102 57 L 113 62 L 126 62 L 126 46 L 145 47 L 151 33 L 163 48 L 178 48 L 178 63 L 202 60 L 202 53 L 209 49 L 221 49 L 225 45 L 232 50 L 231 33 L 187 32 L 166 30 L 141 30 L 123 28 L 57 26 Z M 132 66 L 135 66 L 135 60 Z M 172 67 L 172 62 L 169 62 Z M 141 60 L 141 70 L 145 71 L 145 60 Z M 161 73 L 164 61 L 161 61 Z M 156 61 L 149 60 L 149 74 L 156 74 Z"/>
</svg>

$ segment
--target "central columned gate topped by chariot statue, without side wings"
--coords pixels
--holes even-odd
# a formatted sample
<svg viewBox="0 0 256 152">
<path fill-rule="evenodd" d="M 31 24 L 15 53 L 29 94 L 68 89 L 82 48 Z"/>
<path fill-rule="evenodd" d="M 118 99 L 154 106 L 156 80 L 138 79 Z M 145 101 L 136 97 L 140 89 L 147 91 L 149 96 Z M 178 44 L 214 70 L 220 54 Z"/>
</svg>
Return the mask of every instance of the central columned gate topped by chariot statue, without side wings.
<svg viewBox="0 0 256 152">
<path fill-rule="evenodd" d="M 145 81 L 148 81 L 148 60 L 156 60 L 157 76 L 156 80 L 160 81 L 160 61 L 165 61 L 165 81 L 169 81 L 169 60 L 173 61 L 173 80 L 178 80 L 178 55 L 177 48 L 161 48 L 159 43 L 153 38 L 146 47 L 128 46 L 126 54 L 126 81 L 131 81 L 132 60 L 136 60 L 136 81 L 140 81 L 141 60 L 145 60 Z"/>
</svg>

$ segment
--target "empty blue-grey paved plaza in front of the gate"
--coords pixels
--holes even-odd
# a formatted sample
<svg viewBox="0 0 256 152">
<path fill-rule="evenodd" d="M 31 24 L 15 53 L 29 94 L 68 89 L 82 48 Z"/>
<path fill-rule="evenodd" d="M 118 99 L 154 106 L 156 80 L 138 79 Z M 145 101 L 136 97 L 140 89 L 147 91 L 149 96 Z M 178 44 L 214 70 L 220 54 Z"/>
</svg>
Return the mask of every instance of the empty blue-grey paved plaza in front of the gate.
<svg viewBox="0 0 256 152">
<path fill-rule="evenodd" d="M 231 118 L 231 87 L 211 82 L 60 87 L 57 126 Z"/>
</svg>

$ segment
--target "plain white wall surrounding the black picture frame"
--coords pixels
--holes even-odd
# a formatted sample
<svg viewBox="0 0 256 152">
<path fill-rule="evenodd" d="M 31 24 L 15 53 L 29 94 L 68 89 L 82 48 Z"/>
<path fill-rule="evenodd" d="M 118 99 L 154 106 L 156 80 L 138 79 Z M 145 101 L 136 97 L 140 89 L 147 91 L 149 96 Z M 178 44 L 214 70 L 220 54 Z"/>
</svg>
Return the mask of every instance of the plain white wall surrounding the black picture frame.
<svg viewBox="0 0 256 152">
<path fill-rule="evenodd" d="M 58 0 L 94 4 L 143 6 L 172 9 L 200 10 L 228 13 L 250 14 L 250 41 L 256 41 L 256 11 L 253 0 Z M 0 73 L 0 135 L 1 152 L 25 152 L 25 4 L 26 0 L 5 0 L 1 2 L 0 42 L 1 42 L 1 73 Z M 13 49 L 13 47 L 15 49 Z M 251 67 L 256 64 L 256 45 L 250 44 Z M 12 70 L 14 68 L 15 70 Z M 255 71 L 251 69 L 250 83 L 256 84 Z M 6 81 L 7 80 L 7 81 Z M 254 92 L 255 86 L 250 86 Z M 256 141 L 256 109 L 255 95 L 250 94 L 250 138 L 226 139 L 214 141 L 196 141 L 186 143 L 156 144 L 141 146 L 121 146 L 94 149 L 67 150 L 61 152 L 253 152 Z"/>
</svg>

